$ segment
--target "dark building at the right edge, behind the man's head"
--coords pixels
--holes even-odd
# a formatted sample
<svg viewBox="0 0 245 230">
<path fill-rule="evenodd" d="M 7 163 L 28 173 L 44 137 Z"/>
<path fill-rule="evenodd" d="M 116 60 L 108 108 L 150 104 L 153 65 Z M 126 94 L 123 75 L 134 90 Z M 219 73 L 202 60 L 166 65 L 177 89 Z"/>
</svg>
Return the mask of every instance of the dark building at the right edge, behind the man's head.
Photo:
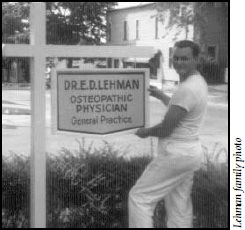
<svg viewBox="0 0 245 230">
<path fill-rule="evenodd" d="M 228 2 L 197 2 L 196 11 L 201 11 L 205 22 L 195 22 L 194 41 L 200 44 L 202 54 L 209 62 L 205 72 L 210 82 L 228 82 Z M 211 70 L 210 70 L 211 69 Z M 205 75 L 206 73 L 204 73 Z"/>
</svg>

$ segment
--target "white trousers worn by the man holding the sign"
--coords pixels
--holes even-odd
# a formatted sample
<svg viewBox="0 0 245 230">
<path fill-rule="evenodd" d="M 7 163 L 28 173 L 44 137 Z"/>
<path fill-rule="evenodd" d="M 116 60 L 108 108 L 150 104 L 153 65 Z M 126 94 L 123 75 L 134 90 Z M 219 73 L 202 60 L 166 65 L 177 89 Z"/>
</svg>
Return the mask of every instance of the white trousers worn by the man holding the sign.
<svg viewBox="0 0 245 230">
<path fill-rule="evenodd" d="M 153 228 L 154 209 L 163 198 L 167 227 L 192 227 L 191 190 L 201 152 L 199 141 L 159 142 L 158 156 L 129 193 L 129 228 Z"/>
</svg>

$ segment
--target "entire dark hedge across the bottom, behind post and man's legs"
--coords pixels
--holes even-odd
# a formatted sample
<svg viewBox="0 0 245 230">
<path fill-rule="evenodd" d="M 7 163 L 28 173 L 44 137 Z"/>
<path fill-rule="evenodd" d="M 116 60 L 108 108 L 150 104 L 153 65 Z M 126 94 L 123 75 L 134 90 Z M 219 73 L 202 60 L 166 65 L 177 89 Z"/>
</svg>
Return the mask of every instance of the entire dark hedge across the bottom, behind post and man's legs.
<svg viewBox="0 0 245 230">
<path fill-rule="evenodd" d="M 47 227 L 127 228 L 127 198 L 150 157 L 130 160 L 105 143 L 91 151 L 63 148 L 47 159 Z M 3 159 L 2 227 L 29 226 L 29 158 Z M 227 227 L 228 166 L 207 161 L 193 186 L 194 227 Z M 21 199 L 19 199 L 21 197 Z M 14 200 L 14 202 L 13 202 Z M 155 210 L 156 228 L 165 227 L 164 201 Z"/>
</svg>

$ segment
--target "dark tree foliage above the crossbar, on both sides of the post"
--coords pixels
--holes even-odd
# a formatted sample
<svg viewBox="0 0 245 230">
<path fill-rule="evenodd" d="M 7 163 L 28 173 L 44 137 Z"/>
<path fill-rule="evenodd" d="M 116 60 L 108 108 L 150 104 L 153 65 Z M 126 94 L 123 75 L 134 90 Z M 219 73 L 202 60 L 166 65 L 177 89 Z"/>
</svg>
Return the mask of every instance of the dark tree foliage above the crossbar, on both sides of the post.
<svg viewBox="0 0 245 230">
<path fill-rule="evenodd" d="M 48 44 L 100 44 L 106 36 L 106 13 L 116 2 L 47 2 Z M 29 41 L 30 2 L 2 3 L 2 40 Z"/>
</svg>

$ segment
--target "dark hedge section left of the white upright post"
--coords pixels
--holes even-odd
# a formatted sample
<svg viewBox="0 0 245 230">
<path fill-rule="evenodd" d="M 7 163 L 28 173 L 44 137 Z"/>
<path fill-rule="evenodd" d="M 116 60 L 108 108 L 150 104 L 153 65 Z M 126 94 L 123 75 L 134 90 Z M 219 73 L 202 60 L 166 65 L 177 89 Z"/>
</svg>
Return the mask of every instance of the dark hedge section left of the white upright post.
<svg viewBox="0 0 245 230">
<path fill-rule="evenodd" d="M 2 228 L 29 225 L 29 159 L 17 154 L 2 160 Z"/>
</svg>

